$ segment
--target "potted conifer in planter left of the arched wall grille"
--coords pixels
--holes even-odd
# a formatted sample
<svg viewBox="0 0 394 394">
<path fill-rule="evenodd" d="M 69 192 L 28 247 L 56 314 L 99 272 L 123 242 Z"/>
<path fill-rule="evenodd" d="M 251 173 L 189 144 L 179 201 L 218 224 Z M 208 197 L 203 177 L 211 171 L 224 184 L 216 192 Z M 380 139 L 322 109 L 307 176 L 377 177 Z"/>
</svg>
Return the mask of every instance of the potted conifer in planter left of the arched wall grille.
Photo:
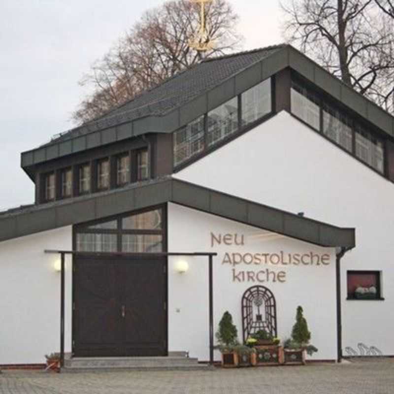
<svg viewBox="0 0 394 394">
<path fill-rule="evenodd" d="M 238 365 L 238 354 L 236 347 L 238 343 L 238 331 L 232 323 L 231 314 L 226 311 L 219 322 L 219 329 L 216 332 L 216 339 L 219 342 L 219 350 L 222 353 L 222 366 L 233 368 Z"/>
</svg>

